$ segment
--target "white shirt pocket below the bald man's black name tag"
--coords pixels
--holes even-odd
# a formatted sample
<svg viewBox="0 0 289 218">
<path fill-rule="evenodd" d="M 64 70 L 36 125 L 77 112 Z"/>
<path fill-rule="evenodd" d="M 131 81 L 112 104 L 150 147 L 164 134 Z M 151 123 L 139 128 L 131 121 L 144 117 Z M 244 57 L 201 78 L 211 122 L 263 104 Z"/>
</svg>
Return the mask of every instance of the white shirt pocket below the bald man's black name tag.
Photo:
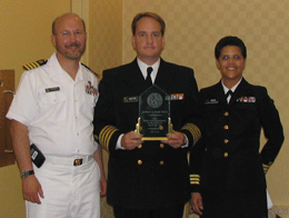
<svg viewBox="0 0 289 218">
<path fill-rule="evenodd" d="M 44 92 L 39 99 L 40 115 L 47 121 L 63 121 L 68 115 L 68 101 L 63 92 Z"/>
</svg>

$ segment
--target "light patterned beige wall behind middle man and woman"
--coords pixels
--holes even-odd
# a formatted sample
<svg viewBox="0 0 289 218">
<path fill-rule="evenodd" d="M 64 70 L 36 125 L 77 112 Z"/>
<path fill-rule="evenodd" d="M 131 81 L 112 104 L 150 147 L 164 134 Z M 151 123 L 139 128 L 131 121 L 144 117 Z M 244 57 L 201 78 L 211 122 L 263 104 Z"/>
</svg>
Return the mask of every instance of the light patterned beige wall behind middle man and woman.
<svg viewBox="0 0 289 218">
<path fill-rule="evenodd" d="M 123 62 L 134 58 L 130 23 L 141 11 L 159 13 L 167 23 L 163 58 L 195 69 L 199 88 L 219 81 L 213 48 L 228 34 L 240 37 L 248 49 L 245 77 L 268 88 L 279 109 L 288 137 L 289 128 L 289 4 L 275 0 L 124 0 Z M 262 140 L 263 141 L 263 140 Z M 283 148 L 267 175 L 275 205 L 289 205 L 287 153 Z"/>
</svg>

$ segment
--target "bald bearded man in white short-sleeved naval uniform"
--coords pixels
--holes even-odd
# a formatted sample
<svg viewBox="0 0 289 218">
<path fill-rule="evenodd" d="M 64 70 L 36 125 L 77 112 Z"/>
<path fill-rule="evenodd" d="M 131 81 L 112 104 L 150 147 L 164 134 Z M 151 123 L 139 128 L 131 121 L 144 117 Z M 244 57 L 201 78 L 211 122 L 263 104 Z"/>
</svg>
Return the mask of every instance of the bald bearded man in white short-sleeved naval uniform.
<svg viewBox="0 0 289 218">
<path fill-rule="evenodd" d="M 98 79 L 80 63 L 84 22 L 74 13 L 57 18 L 57 52 L 24 71 L 7 117 L 22 177 L 29 218 L 99 218 L 106 195 L 102 150 L 93 140 Z M 30 145 L 46 157 L 38 168 Z"/>
</svg>

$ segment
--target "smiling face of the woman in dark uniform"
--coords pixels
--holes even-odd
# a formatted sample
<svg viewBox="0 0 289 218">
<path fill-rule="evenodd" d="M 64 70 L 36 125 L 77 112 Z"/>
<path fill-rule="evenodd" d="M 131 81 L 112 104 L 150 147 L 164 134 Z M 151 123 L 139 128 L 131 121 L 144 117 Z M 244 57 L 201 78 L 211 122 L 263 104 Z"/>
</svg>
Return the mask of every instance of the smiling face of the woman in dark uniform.
<svg viewBox="0 0 289 218">
<path fill-rule="evenodd" d="M 221 72 L 223 82 L 237 83 L 242 78 L 246 59 L 239 47 L 227 46 L 222 48 L 219 59 L 216 59 L 216 65 Z"/>
</svg>

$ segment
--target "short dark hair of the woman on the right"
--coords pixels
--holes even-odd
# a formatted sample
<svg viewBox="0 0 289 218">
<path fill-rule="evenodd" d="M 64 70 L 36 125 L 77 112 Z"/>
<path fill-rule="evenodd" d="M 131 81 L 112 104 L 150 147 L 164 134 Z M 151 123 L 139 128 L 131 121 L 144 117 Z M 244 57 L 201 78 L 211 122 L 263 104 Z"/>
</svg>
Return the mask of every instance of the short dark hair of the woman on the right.
<svg viewBox="0 0 289 218">
<path fill-rule="evenodd" d="M 216 59 L 219 59 L 222 49 L 227 46 L 239 47 L 241 49 L 242 57 L 245 59 L 247 58 L 247 49 L 246 49 L 243 41 L 241 39 L 239 39 L 238 37 L 228 36 L 228 37 L 223 37 L 222 39 L 220 39 L 218 41 L 218 43 L 216 44 L 216 47 L 215 47 L 215 58 Z"/>
</svg>

